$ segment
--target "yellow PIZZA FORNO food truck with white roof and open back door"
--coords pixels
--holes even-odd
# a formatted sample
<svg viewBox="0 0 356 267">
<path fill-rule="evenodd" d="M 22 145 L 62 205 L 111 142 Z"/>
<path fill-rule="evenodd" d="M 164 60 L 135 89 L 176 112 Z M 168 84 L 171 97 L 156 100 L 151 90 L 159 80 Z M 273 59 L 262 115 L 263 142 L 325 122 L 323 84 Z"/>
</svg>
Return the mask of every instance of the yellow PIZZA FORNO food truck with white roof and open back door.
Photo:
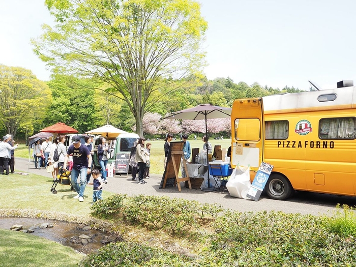
<svg viewBox="0 0 356 267">
<path fill-rule="evenodd" d="M 265 186 L 273 199 L 294 190 L 356 195 L 356 86 L 236 99 L 231 165 L 274 166 Z"/>
</svg>

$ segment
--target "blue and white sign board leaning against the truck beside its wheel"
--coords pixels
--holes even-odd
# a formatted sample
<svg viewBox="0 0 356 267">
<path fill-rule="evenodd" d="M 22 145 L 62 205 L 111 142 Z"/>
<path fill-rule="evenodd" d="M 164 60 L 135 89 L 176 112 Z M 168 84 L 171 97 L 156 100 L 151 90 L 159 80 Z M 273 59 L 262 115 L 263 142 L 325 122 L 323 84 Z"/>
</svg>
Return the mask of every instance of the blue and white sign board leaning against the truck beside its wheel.
<svg viewBox="0 0 356 267">
<path fill-rule="evenodd" d="M 259 165 L 258 171 L 255 178 L 251 184 L 250 190 L 247 193 L 247 197 L 258 201 L 259 197 L 262 194 L 263 188 L 265 187 L 268 178 L 272 172 L 273 165 L 265 162 L 261 162 Z"/>
</svg>

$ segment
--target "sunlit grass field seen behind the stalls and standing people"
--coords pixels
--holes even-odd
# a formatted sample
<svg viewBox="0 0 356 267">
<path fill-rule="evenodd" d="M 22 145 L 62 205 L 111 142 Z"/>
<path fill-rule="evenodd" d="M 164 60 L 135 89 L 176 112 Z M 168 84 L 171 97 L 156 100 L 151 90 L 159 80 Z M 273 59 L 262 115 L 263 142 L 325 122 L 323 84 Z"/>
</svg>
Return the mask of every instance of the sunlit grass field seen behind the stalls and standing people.
<svg viewBox="0 0 356 267">
<path fill-rule="evenodd" d="M 178 140 L 179 141 L 179 140 Z M 190 146 L 192 149 L 198 147 L 199 151 L 201 152 L 203 149 L 203 142 L 201 139 L 197 140 L 188 140 L 190 142 Z M 150 172 L 155 173 L 155 174 L 163 174 L 164 169 L 163 169 L 163 162 L 164 162 L 164 140 L 150 140 L 146 141 L 152 143 L 151 147 L 151 168 Z M 213 145 L 221 145 L 222 149 L 228 149 L 228 147 L 231 145 L 231 139 L 224 139 L 224 140 L 215 140 L 212 139 L 210 142 Z M 20 157 L 20 158 L 28 158 L 28 149 L 24 144 L 20 144 L 19 148 L 15 150 L 15 157 Z M 32 155 L 31 155 L 32 157 Z M 15 163 L 16 164 L 16 163 Z M 16 165 L 15 165 L 16 168 Z"/>
</svg>

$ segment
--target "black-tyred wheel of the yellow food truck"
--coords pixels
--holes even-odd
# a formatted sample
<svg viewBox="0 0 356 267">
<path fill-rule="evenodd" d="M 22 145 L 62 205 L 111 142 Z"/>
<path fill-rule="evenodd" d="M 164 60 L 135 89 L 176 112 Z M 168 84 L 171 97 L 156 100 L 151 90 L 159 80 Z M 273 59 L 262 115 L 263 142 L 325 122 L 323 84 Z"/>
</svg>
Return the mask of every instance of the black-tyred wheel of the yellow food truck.
<svg viewBox="0 0 356 267">
<path fill-rule="evenodd" d="M 279 173 L 272 173 L 266 184 L 266 193 L 272 198 L 283 200 L 293 193 L 294 189 L 289 180 Z"/>
</svg>

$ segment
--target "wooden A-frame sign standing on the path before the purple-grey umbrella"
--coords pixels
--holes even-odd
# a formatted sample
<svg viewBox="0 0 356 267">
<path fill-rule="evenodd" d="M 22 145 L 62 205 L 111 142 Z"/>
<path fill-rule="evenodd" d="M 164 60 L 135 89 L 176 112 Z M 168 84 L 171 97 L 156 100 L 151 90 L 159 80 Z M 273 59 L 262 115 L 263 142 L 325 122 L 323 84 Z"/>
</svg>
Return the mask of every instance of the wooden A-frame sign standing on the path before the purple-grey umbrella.
<svg viewBox="0 0 356 267">
<path fill-rule="evenodd" d="M 189 189 L 192 189 L 190 184 L 189 173 L 185 161 L 183 161 L 183 167 L 187 177 L 179 177 L 179 168 L 181 166 L 181 159 L 183 154 L 184 142 L 170 142 L 169 152 L 167 158 L 166 169 L 164 170 L 160 188 L 165 188 L 166 186 L 175 186 L 177 184 L 178 191 L 181 191 L 180 182 L 188 181 Z"/>
</svg>

